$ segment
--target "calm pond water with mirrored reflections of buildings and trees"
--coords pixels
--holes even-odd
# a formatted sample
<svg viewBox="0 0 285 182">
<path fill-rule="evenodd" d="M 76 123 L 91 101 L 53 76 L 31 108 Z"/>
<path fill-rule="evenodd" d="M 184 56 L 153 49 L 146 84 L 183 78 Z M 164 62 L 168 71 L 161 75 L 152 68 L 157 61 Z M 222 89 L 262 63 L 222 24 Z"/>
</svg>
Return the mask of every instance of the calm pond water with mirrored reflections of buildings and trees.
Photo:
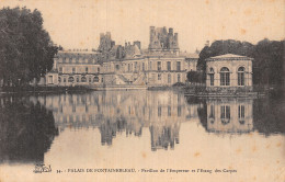
<svg viewBox="0 0 285 182">
<path fill-rule="evenodd" d="M 13 181 L 14 171 L 26 181 L 47 177 L 67 181 L 285 180 L 282 99 L 198 100 L 175 91 L 140 90 L 13 95 L 0 102 L 4 181 Z M 50 164 L 53 172 L 33 173 L 36 163 Z M 65 172 L 81 168 L 134 168 L 137 172 Z M 213 171 L 138 172 L 141 169 Z M 214 173 L 215 169 L 237 172 Z"/>
</svg>

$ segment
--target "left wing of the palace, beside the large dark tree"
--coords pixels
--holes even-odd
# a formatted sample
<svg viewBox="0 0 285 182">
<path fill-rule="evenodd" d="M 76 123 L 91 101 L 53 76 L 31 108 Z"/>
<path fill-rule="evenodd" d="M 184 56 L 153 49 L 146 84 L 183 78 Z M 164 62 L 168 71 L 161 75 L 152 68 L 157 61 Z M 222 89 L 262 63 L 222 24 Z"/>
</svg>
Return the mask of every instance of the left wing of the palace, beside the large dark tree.
<svg viewBox="0 0 285 182">
<path fill-rule="evenodd" d="M 46 84 L 98 86 L 102 80 L 101 59 L 94 52 L 59 52 L 53 70 L 46 75 Z"/>
</svg>

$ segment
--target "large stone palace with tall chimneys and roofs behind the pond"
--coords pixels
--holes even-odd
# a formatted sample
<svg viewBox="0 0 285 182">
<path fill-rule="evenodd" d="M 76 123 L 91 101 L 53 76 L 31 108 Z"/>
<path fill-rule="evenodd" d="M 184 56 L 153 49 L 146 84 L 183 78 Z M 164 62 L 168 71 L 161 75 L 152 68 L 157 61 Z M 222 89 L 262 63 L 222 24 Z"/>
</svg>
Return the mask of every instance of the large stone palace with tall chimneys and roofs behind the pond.
<svg viewBox="0 0 285 182">
<path fill-rule="evenodd" d="M 186 81 L 186 72 L 196 70 L 198 56 L 179 54 L 178 33 L 173 29 L 150 26 L 150 43 L 116 45 L 111 33 L 100 34 L 96 52 L 58 52 L 48 86 L 162 87 Z"/>
</svg>

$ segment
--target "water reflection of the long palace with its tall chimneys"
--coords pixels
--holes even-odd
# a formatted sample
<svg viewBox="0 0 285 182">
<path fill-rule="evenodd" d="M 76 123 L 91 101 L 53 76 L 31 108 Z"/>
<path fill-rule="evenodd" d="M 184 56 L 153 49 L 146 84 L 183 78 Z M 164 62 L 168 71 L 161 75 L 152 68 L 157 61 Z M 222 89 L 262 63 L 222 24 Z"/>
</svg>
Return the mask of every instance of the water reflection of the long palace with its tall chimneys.
<svg viewBox="0 0 285 182">
<path fill-rule="evenodd" d="M 102 145 L 112 145 L 118 133 L 139 137 L 142 127 L 149 127 L 151 150 L 173 149 L 181 123 L 197 117 L 195 105 L 186 105 L 183 93 L 172 91 L 96 91 L 31 100 L 53 111 L 61 132 L 99 128 Z"/>
</svg>

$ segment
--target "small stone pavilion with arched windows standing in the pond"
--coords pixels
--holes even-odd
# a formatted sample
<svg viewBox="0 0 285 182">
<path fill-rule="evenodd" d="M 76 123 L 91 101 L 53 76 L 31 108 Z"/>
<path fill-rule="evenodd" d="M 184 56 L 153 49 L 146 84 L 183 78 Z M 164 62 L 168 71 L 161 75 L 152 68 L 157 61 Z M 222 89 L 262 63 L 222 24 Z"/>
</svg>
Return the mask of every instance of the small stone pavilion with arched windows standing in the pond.
<svg viewBox="0 0 285 182">
<path fill-rule="evenodd" d="M 232 54 L 210 57 L 206 73 L 207 90 L 252 90 L 252 58 Z"/>
</svg>

